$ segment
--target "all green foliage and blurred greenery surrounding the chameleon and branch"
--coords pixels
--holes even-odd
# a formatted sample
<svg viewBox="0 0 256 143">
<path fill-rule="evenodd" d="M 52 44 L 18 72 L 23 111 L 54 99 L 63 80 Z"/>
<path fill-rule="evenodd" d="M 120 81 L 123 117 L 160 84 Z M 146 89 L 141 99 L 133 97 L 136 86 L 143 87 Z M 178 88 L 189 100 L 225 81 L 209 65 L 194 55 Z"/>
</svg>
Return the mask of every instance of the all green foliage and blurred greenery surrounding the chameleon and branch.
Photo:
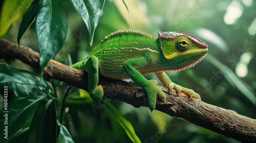
<svg viewBox="0 0 256 143">
<path fill-rule="evenodd" d="M 40 71 L 51 59 L 68 65 L 71 59 L 82 60 L 104 36 L 118 29 L 154 36 L 157 31 L 182 31 L 205 41 L 209 55 L 193 69 L 168 76 L 194 89 L 204 102 L 256 117 L 256 4 L 251 0 L 20 2 L 0 2 L 0 36 L 34 48 L 38 45 Z M 0 89 L 8 86 L 9 139 L 0 134 L 0 142 L 236 142 L 179 118 L 119 101 L 111 101 L 117 109 L 108 103 L 95 115 L 86 91 L 58 80 L 46 81 L 44 74 L 39 78 L 41 72 L 18 60 L 7 62 L 12 66 L 0 65 Z M 2 119 L 3 90 L 0 94 Z"/>
</svg>

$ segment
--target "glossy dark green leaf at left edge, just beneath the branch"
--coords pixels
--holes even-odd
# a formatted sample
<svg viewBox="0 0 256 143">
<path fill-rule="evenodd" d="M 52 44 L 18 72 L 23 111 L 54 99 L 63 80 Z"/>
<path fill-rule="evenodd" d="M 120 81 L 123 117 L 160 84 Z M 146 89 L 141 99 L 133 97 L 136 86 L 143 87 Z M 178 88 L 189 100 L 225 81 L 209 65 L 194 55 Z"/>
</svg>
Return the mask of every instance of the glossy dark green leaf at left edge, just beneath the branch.
<svg viewBox="0 0 256 143">
<path fill-rule="evenodd" d="M 17 69 L 8 64 L 0 64 L 0 83 L 16 82 L 21 84 L 35 85 L 43 88 L 47 88 L 45 80 L 30 73 L 27 70 Z"/>
</svg>

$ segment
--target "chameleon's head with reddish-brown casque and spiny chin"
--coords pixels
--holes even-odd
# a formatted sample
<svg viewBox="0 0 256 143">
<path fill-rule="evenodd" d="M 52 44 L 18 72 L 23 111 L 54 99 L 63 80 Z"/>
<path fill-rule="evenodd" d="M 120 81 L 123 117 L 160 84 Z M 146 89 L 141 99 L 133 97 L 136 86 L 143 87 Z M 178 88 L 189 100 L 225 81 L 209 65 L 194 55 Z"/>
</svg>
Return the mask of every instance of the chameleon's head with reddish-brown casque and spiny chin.
<svg viewBox="0 0 256 143">
<path fill-rule="evenodd" d="M 195 66 L 208 52 L 208 45 L 183 32 L 158 32 L 163 56 L 169 70 L 180 71 Z"/>
</svg>

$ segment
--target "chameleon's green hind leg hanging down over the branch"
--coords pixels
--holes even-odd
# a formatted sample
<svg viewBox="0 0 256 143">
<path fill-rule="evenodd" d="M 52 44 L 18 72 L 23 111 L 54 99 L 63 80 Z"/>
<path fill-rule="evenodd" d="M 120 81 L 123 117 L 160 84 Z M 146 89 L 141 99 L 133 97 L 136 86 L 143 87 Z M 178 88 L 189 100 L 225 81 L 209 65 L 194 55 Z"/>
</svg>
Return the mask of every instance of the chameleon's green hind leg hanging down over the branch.
<svg viewBox="0 0 256 143">
<path fill-rule="evenodd" d="M 99 103 L 103 97 L 103 88 L 101 85 L 98 86 L 99 82 L 99 71 L 98 71 L 98 58 L 91 56 L 84 69 L 88 69 L 88 92 L 93 99 L 94 103 Z"/>
</svg>

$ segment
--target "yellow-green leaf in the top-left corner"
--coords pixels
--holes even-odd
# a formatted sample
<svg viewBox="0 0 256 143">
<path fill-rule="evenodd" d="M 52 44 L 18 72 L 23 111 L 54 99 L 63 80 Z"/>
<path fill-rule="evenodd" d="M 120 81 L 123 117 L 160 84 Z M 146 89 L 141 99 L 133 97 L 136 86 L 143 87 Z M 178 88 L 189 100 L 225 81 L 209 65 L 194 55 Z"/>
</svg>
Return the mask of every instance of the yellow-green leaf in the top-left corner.
<svg viewBox="0 0 256 143">
<path fill-rule="evenodd" d="M 12 23 L 27 11 L 32 2 L 33 0 L 4 1 L 0 13 L 0 37 L 4 36 Z"/>
</svg>

